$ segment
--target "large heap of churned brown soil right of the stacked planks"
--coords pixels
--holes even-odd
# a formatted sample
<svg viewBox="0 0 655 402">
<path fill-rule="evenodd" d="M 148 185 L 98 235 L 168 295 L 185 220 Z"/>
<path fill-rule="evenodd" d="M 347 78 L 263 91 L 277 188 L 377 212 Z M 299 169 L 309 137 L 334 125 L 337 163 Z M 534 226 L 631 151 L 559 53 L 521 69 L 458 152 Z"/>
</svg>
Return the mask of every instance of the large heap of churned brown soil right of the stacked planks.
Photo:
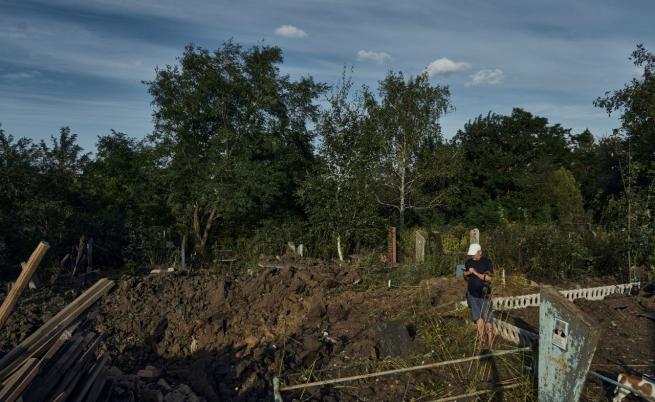
<svg viewBox="0 0 655 402">
<path fill-rule="evenodd" d="M 279 367 L 298 367 L 337 343 L 331 319 L 348 314 L 326 303 L 359 277 L 346 265 L 293 261 L 252 277 L 130 277 L 104 298 L 98 330 L 114 363 L 133 372 L 148 363 L 190 384 L 210 400 L 258 399 Z M 362 301 L 363 297 L 360 298 Z"/>
</svg>

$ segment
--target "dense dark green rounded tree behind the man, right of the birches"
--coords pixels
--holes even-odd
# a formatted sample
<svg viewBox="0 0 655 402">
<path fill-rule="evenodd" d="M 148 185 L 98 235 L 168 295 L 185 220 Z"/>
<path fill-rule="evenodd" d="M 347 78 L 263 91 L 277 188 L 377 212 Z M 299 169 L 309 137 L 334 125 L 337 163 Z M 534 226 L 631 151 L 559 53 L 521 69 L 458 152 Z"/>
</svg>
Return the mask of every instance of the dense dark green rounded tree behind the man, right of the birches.
<svg viewBox="0 0 655 402">
<path fill-rule="evenodd" d="M 566 164 L 569 130 L 514 109 L 468 122 L 455 136 L 464 158 L 460 209 L 481 206 L 509 219 L 549 220 L 551 173 Z"/>
</svg>

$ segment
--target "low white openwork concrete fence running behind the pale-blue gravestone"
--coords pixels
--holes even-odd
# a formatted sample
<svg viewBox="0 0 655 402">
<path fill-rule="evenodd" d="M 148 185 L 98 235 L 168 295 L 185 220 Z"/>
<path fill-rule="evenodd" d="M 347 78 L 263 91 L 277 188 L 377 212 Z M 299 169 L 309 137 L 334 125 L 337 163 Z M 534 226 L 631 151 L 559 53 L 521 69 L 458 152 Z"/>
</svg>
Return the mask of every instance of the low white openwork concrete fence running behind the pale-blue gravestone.
<svg viewBox="0 0 655 402">
<path fill-rule="evenodd" d="M 639 287 L 639 285 L 639 282 L 623 283 L 619 285 L 598 286 L 594 288 L 560 290 L 560 293 L 570 301 L 576 299 L 603 300 L 605 297 L 612 294 L 628 295 L 634 286 Z M 541 304 L 541 298 L 539 297 L 539 293 L 533 293 L 522 296 L 494 297 L 491 299 L 491 303 L 494 310 L 514 310 L 526 307 L 539 307 Z M 463 301 L 458 303 L 457 307 L 466 308 L 468 305 L 466 301 Z"/>
</svg>

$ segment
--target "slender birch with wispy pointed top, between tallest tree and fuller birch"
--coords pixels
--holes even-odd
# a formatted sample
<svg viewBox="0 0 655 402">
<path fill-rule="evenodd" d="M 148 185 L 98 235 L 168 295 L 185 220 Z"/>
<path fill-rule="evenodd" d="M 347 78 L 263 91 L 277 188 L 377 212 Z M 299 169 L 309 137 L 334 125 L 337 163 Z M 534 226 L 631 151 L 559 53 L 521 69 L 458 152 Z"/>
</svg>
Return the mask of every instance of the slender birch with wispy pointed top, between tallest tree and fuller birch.
<svg viewBox="0 0 655 402">
<path fill-rule="evenodd" d="M 316 127 L 318 163 L 299 191 L 313 231 L 336 241 L 341 261 L 346 244 L 374 238 L 382 226 L 368 181 L 374 144 L 367 127 L 367 89 L 354 95 L 351 89 L 344 70 Z"/>
</svg>

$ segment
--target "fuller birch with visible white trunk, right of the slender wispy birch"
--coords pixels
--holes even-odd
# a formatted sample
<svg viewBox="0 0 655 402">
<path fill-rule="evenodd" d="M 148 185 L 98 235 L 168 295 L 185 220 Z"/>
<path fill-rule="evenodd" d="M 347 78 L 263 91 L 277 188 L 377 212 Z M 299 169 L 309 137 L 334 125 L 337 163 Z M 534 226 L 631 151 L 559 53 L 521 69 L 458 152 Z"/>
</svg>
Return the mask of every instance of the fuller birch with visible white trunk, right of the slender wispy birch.
<svg viewBox="0 0 655 402">
<path fill-rule="evenodd" d="M 456 154 L 442 152 L 439 119 L 451 110 L 448 87 L 432 85 L 427 73 L 405 79 L 389 73 L 380 82 L 379 101 L 368 96 L 368 113 L 377 133 L 375 196 L 381 205 L 398 212 L 405 225 L 409 210 L 434 209 L 446 204 L 448 192 L 422 189 L 451 177 Z"/>
</svg>

